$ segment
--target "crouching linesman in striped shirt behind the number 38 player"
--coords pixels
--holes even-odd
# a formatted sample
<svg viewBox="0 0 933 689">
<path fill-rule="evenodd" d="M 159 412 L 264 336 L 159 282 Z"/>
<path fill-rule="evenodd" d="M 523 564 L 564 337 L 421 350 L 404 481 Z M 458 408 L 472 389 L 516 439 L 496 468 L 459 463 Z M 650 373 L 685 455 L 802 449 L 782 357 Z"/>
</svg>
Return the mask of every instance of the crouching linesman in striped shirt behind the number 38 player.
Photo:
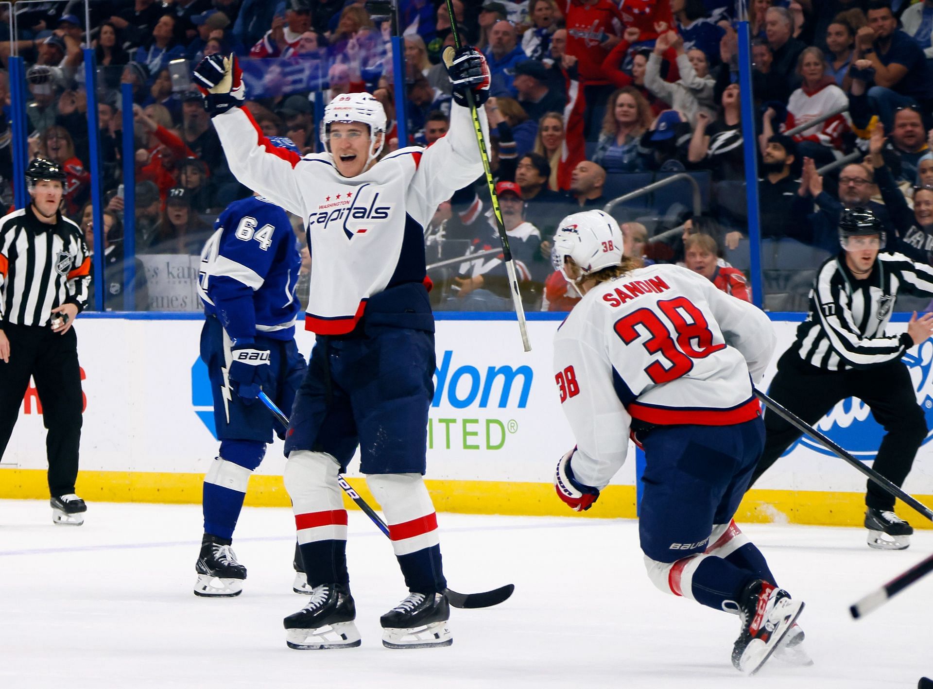
<svg viewBox="0 0 933 689">
<path fill-rule="evenodd" d="M 863 208 L 842 211 L 839 238 L 842 251 L 817 271 L 810 313 L 778 361 L 768 393 L 810 424 L 843 399 L 858 397 L 884 426 L 874 469 L 901 486 L 927 432 L 901 357 L 933 335 L 933 314 L 917 318 L 914 312 L 907 332 L 899 335 L 888 335 L 885 327 L 899 292 L 933 296 L 933 268 L 903 254 L 881 252 L 884 229 Z M 752 484 L 801 436 L 771 411 L 764 424 L 767 437 Z M 903 550 L 910 545 L 913 529 L 894 513 L 894 497 L 869 481 L 865 504 L 871 547 Z"/>
</svg>

